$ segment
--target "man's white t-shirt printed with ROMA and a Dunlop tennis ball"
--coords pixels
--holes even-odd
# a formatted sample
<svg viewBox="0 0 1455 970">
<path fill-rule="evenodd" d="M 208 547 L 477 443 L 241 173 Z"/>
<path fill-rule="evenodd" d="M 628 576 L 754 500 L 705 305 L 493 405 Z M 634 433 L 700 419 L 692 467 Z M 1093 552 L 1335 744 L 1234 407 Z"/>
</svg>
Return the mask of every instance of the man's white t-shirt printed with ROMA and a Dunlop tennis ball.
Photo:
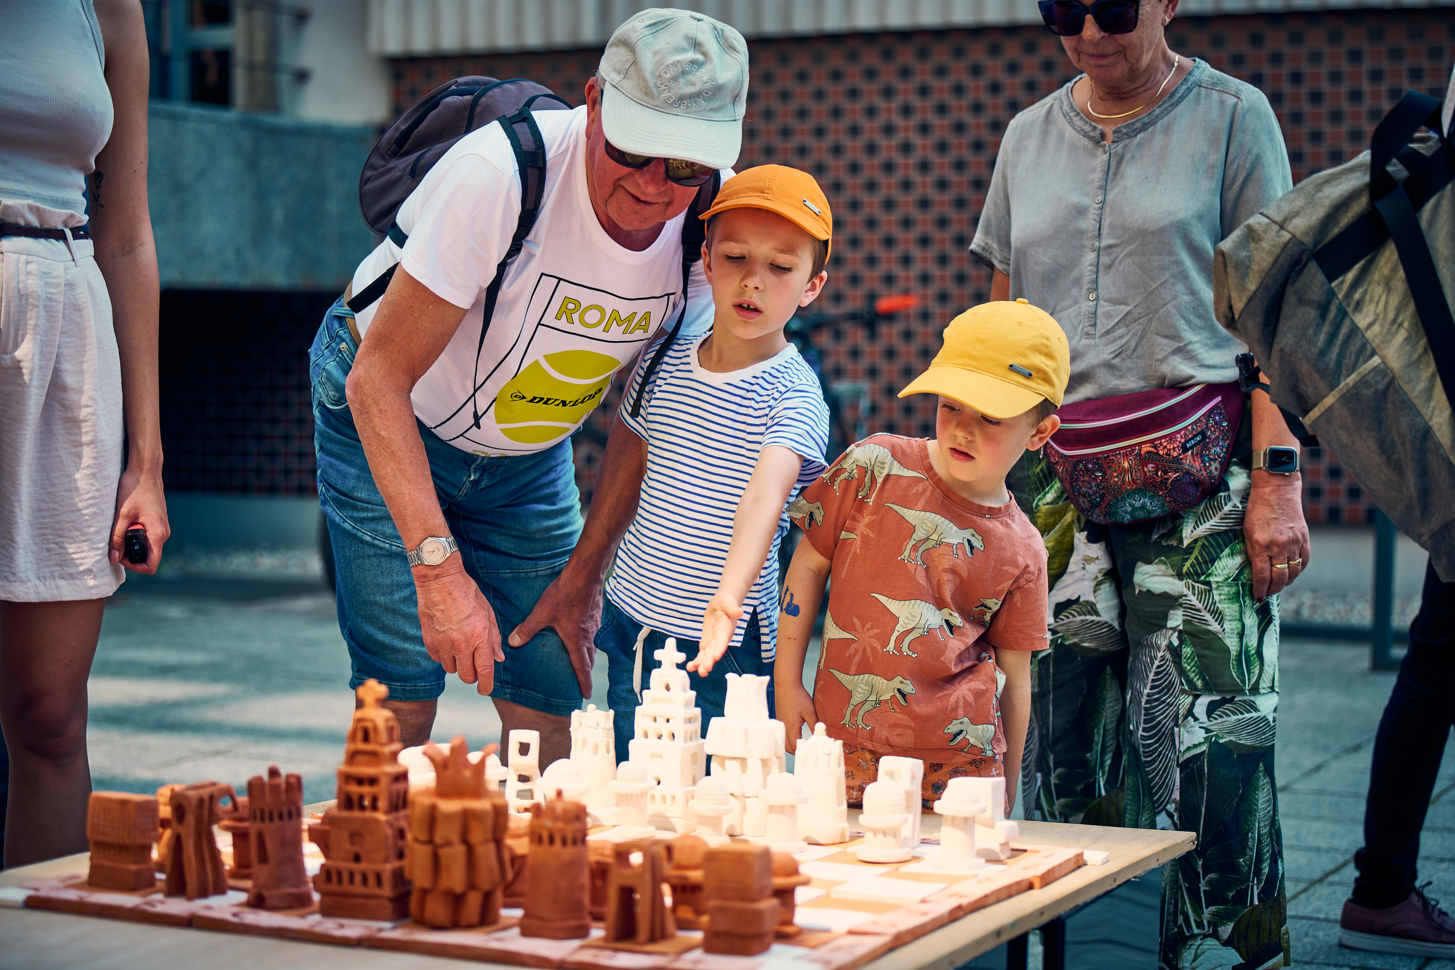
<svg viewBox="0 0 1455 970">
<path fill-rule="evenodd" d="M 431 292 L 467 307 L 410 398 L 435 435 L 479 455 L 543 451 L 573 432 L 601 403 L 611 375 L 669 327 L 679 307 L 685 214 L 647 249 L 623 249 L 601 228 L 586 192 L 586 109 L 540 112 L 535 124 L 546 143 L 546 192 L 535 227 L 505 270 L 479 361 L 485 291 L 521 212 L 515 154 L 501 125 L 455 143 L 404 199 L 396 218 L 409 234 L 403 259 L 386 239 L 354 273 L 359 292 L 403 262 Z M 701 262 L 688 294 L 682 336 L 690 340 L 713 320 Z M 377 308 L 358 314 L 359 333 Z"/>
</svg>

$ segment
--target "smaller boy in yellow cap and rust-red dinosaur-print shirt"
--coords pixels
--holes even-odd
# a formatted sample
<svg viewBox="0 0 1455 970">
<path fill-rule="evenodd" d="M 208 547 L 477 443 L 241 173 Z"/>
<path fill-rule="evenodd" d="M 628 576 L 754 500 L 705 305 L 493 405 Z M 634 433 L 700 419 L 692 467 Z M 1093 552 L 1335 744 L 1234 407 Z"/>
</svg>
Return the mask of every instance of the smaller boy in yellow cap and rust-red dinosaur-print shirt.
<svg viewBox="0 0 1455 970">
<path fill-rule="evenodd" d="M 822 721 L 844 742 L 850 803 L 883 755 L 924 761 L 921 798 L 1002 777 L 1014 803 L 1030 720 L 1030 652 L 1046 640 L 1046 548 L 1005 476 L 1061 426 L 1071 353 L 1051 314 L 988 302 L 956 317 L 930 369 L 933 439 L 873 435 L 790 509 L 803 528 L 774 670 L 789 750 Z M 813 694 L 803 657 L 829 586 Z"/>
</svg>

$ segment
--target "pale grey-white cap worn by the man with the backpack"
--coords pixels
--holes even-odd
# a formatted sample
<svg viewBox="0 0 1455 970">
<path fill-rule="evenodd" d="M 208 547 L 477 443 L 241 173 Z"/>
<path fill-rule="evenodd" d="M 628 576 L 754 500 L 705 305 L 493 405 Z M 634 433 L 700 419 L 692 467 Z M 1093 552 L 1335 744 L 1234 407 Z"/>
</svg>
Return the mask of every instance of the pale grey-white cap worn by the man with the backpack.
<svg viewBox="0 0 1455 970">
<path fill-rule="evenodd" d="M 601 57 L 601 127 L 623 151 L 738 161 L 748 111 L 748 42 L 691 10 L 652 9 L 617 28 Z"/>
</svg>

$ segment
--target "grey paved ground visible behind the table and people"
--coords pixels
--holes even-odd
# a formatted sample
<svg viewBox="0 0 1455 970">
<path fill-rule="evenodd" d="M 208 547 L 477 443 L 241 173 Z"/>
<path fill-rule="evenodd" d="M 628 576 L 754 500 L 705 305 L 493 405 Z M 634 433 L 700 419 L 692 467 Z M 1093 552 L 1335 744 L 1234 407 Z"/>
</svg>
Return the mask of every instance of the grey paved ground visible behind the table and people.
<svg viewBox="0 0 1455 970">
<path fill-rule="evenodd" d="M 806 666 L 813 669 L 812 657 Z M 604 675 L 602 666 L 597 697 L 605 697 Z M 1295 964 L 1455 970 L 1455 961 L 1337 944 L 1374 733 L 1394 675 L 1371 673 L 1363 646 L 1295 640 L 1282 644 L 1282 681 L 1277 774 Z M 332 798 L 352 707 L 348 650 L 332 595 L 316 577 L 132 580 L 108 605 L 90 682 L 93 782 L 153 791 L 211 778 L 243 787 L 278 763 L 303 774 L 308 801 Z M 451 678 L 435 737 L 455 733 L 479 746 L 498 737 L 499 718 Z M 1436 896 L 1455 893 L 1452 790 L 1448 761 L 1420 859 L 1420 878 L 1435 881 Z M 1155 932 L 1157 877 L 1148 874 L 1072 918 L 1069 966 L 1152 967 Z M 972 966 L 1004 966 L 1004 955 Z"/>
</svg>

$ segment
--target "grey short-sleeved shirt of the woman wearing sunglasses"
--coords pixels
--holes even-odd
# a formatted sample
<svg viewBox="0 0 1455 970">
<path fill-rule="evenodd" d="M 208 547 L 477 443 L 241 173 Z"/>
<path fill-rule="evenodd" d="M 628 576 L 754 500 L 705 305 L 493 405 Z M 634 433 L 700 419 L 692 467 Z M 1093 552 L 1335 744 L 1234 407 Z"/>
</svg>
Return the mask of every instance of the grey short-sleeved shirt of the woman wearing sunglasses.
<svg viewBox="0 0 1455 970">
<path fill-rule="evenodd" d="M 1106 144 L 1074 83 L 1005 128 L 970 253 L 1067 332 L 1067 403 L 1237 380 L 1212 252 L 1293 186 L 1273 109 L 1197 61 Z"/>
</svg>

